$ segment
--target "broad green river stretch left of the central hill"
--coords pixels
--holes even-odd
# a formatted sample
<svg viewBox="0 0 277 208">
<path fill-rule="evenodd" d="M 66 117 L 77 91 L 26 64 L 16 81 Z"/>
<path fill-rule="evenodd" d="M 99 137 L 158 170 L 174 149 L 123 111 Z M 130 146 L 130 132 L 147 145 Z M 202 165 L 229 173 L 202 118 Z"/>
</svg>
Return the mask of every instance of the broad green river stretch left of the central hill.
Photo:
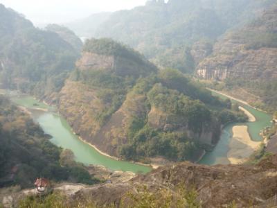
<svg viewBox="0 0 277 208">
<path fill-rule="evenodd" d="M 53 144 L 72 150 L 77 162 L 105 166 L 111 171 L 131 171 L 133 173 L 151 171 L 150 166 L 116 160 L 98 153 L 96 149 L 85 144 L 73 134 L 69 123 L 55 112 L 54 107 L 38 102 L 31 96 L 11 96 L 11 99 L 17 105 L 26 107 L 31 112 L 31 116 L 39 123 L 44 132 L 53 137 L 50 140 Z"/>
</svg>

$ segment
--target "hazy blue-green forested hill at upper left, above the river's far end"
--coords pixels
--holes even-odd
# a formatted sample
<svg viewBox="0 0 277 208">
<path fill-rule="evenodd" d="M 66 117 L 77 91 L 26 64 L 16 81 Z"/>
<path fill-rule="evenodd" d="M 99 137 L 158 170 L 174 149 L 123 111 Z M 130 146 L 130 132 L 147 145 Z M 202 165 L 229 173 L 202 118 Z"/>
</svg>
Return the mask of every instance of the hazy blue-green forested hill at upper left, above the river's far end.
<svg viewBox="0 0 277 208">
<path fill-rule="evenodd" d="M 38 97 L 53 94 L 78 58 L 71 44 L 42 31 L 23 15 L 0 4 L 0 85 Z"/>
</svg>

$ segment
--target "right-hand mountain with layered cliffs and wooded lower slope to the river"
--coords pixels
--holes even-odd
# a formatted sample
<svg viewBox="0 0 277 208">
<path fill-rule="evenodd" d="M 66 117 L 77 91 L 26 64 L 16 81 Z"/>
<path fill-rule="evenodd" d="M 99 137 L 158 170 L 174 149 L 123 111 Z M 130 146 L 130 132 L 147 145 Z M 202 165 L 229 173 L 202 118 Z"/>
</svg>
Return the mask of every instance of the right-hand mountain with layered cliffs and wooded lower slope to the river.
<svg viewBox="0 0 277 208">
<path fill-rule="evenodd" d="M 269 111 L 276 110 L 276 33 L 277 5 L 220 38 L 213 46 L 213 53 L 197 66 L 196 75 L 208 80 L 223 80 L 225 89 L 236 96 Z M 245 90 L 248 93 L 243 92 Z"/>
</svg>

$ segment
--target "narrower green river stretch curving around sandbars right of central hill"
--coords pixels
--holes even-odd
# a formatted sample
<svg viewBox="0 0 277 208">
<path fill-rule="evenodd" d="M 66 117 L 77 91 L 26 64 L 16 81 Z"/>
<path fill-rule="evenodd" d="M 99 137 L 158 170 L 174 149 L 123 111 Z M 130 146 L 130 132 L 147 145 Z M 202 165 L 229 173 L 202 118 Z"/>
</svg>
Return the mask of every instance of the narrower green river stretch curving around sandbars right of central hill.
<svg viewBox="0 0 277 208">
<path fill-rule="evenodd" d="M 217 92 L 212 92 L 212 94 L 222 99 L 227 98 L 226 96 L 218 94 Z M 253 114 L 253 116 L 255 116 L 256 121 L 247 123 L 230 123 L 229 125 L 226 125 L 222 130 L 222 135 L 220 137 L 220 141 L 218 141 L 217 143 L 217 146 L 213 148 L 212 152 L 206 153 L 206 155 L 204 155 L 204 157 L 199 161 L 199 164 L 230 164 L 227 153 L 229 152 L 229 144 L 233 137 L 233 126 L 247 125 L 251 140 L 262 141 L 262 137 L 260 137 L 260 131 L 263 128 L 272 125 L 270 122 L 271 116 L 269 116 L 269 114 L 266 114 L 265 112 L 262 112 L 260 110 L 256 110 L 255 108 L 250 107 L 249 105 L 246 105 L 244 103 L 240 103 L 239 101 L 236 101 L 234 99 L 231 99 L 231 101 L 232 103 L 238 103 L 240 106 L 248 110 L 251 114 Z"/>
</svg>

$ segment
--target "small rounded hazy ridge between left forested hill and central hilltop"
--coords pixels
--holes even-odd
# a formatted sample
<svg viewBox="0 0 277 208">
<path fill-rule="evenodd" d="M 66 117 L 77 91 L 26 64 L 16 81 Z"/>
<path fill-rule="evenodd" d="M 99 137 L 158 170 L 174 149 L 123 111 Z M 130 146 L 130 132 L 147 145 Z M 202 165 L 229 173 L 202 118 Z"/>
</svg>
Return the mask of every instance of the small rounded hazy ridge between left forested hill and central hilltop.
<svg viewBox="0 0 277 208">
<path fill-rule="evenodd" d="M 68 28 L 57 24 L 48 24 L 48 26 L 46 26 L 46 31 L 57 33 L 63 40 L 71 44 L 76 51 L 82 50 L 82 40 Z"/>
</svg>

